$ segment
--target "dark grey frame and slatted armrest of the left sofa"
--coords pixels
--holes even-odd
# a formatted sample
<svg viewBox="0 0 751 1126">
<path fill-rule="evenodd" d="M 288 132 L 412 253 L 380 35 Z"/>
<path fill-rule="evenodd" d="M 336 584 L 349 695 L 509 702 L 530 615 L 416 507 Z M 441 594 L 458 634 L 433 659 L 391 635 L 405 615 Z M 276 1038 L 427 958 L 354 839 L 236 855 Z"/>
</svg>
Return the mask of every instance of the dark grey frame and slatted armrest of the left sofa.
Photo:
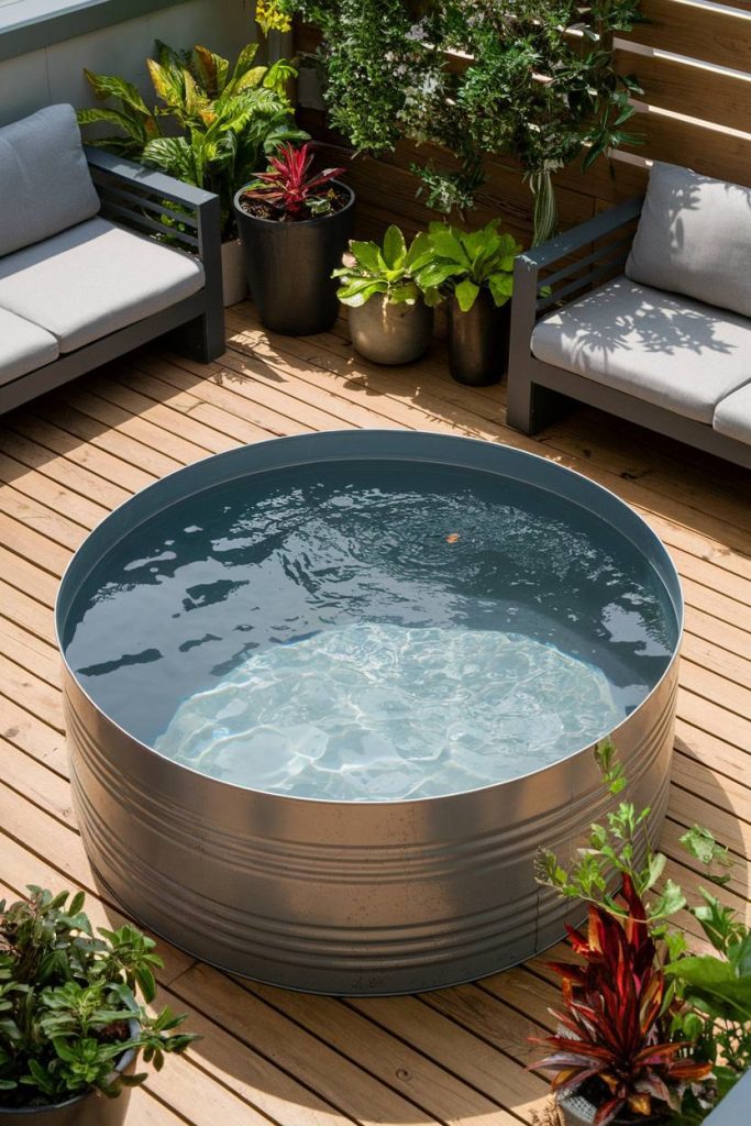
<svg viewBox="0 0 751 1126">
<path fill-rule="evenodd" d="M 100 214 L 138 234 L 169 234 L 171 243 L 197 254 L 206 282 L 190 297 L 0 385 L 0 413 L 166 332 L 173 332 L 179 351 L 203 363 L 216 359 L 224 351 L 218 198 L 101 149 L 87 145 L 84 151 L 101 199 Z M 166 227 L 160 222 L 163 216 L 175 225 Z"/>
</svg>

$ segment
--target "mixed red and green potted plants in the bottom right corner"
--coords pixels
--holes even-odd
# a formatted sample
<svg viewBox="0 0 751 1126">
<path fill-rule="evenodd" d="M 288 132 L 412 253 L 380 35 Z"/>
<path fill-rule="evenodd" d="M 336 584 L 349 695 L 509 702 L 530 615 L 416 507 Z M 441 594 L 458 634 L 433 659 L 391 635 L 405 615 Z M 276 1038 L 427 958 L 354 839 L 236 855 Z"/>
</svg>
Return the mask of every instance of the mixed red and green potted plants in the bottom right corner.
<svg viewBox="0 0 751 1126">
<path fill-rule="evenodd" d="M 605 785 L 617 795 L 626 778 L 613 743 L 604 741 L 596 757 Z M 701 901 L 688 904 L 681 888 L 663 879 L 665 857 L 653 850 L 646 837 L 649 812 L 620 802 L 605 824 L 591 825 L 588 848 L 580 850 L 569 868 L 549 849 L 538 854 L 538 881 L 566 899 L 587 902 L 590 912 L 587 939 L 570 931 L 583 964 L 554 966 L 562 977 L 565 1012 L 555 1013 L 561 1036 L 548 1038 L 555 1052 L 545 1065 L 555 1072 L 553 1089 L 566 1123 L 599 1126 L 644 1121 L 647 1114 L 656 1114 L 659 1121 L 694 1126 L 751 1066 L 751 931 L 714 893 L 700 888 Z M 727 882 L 727 850 L 708 830 L 694 825 L 680 840 L 692 864 L 705 868 L 707 879 L 721 886 Z M 672 922 L 682 909 L 700 923 L 714 954 L 688 950 L 682 929 Z M 616 927 L 623 930 L 622 939 L 614 939 Z M 626 956 L 620 950 L 624 942 Z M 607 953 L 613 949 L 616 955 Z M 625 1107 L 606 1111 L 618 1089 L 613 1082 L 614 1042 L 608 1037 L 618 1031 L 623 1048 L 620 1034 L 635 1029 L 622 1013 L 632 989 L 641 999 L 642 1020 L 650 1016 L 644 1002 L 652 1004 L 652 992 L 661 998 L 656 1021 L 644 1044 L 649 1053 L 634 1061 L 642 1065 L 649 1062 L 650 1066 L 659 1063 L 661 1081 L 642 1076 L 645 1082 L 636 1093 L 649 1093 L 649 1106 L 638 1098 L 629 1103 L 626 1098 Z M 601 1003 L 600 999 L 607 1000 Z M 571 1036 L 578 1042 L 573 1052 Z M 665 1045 L 676 1044 L 680 1045 L 678 1052 L 672 1047 L 664 1051 Z M 608 1069 L 607 1075 L 602 1067 Z M 594 1076 L 605 1087 L 590 1083 Z M 582 1089 L 589 1107 L 572 1100 Z"/>
</svg>

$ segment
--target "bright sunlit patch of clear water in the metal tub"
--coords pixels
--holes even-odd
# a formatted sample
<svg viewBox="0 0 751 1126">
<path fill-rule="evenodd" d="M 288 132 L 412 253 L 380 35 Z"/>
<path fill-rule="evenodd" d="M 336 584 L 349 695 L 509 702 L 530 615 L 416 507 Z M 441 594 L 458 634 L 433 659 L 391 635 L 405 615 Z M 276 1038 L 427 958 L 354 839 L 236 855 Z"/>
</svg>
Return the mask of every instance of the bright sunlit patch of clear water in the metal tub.
<svg viewBox="0 0 751 1126">
<path fill-rule="evenodd" d="M 400 801 L 537 770 L 623 718 L 604 673 L 553 645 L 365 623 L 251 656 L 185 700 L 154 747 L 253 789 Z"/>
</svg>

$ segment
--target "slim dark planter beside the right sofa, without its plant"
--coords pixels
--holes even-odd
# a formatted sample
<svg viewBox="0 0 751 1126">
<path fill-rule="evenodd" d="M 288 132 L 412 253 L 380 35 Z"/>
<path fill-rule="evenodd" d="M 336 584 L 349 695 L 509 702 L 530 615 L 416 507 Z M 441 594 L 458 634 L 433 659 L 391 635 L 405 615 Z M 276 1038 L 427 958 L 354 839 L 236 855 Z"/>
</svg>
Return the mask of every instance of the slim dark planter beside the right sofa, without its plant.
<svg viewBox="0 0 751 1126">
<path fill-rule="evenodd" d="M 481 289 L 468 313 L 456 297 L 448 304 L 448 364 L 457 383 L 484 387 L 498 383 L 509 366 L 511 302 L 501 309 Z"/>
</svg>

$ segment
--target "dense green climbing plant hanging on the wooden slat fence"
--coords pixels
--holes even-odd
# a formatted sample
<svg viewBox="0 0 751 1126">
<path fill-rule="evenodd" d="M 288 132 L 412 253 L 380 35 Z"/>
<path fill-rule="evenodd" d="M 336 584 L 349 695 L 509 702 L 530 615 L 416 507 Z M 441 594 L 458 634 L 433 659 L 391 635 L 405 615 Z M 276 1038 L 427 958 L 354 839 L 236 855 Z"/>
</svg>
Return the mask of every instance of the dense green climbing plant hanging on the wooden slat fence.
<svg viewBox="0 0 751 1126">
<path fill-rule="evenodd" d="M 638 0 L 274 0 L 320 28 L 333 128 L 378 154 L 436 144 L 454 167 L 413 166 L 428 205 L 472 207 L 491 155 L 512 157 L 535 196 L 535 241 L 556 226 L 553 175 L 636 144 L 641 92 L 616 69 L 615 34 Z"/>
</svg>

